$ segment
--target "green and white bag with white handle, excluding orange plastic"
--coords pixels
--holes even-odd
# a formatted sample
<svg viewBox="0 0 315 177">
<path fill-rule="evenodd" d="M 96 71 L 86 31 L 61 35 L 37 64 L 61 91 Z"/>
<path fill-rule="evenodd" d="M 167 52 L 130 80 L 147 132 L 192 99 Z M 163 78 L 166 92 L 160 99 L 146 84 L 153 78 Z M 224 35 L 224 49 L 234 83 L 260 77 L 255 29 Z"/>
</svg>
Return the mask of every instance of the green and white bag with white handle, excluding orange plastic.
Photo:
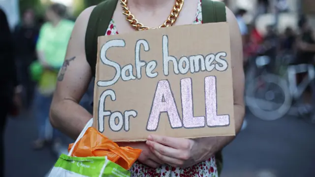
<svg viewBox="0 0 315 177">
<path fill-rule="evenodd" d="M 105 157 L 71 157 L 73 147 L 93 124 L 91 119 L 68 155 L 62 154 L 48 177 L 130 177 L 130 172 Z"/>
</svg>

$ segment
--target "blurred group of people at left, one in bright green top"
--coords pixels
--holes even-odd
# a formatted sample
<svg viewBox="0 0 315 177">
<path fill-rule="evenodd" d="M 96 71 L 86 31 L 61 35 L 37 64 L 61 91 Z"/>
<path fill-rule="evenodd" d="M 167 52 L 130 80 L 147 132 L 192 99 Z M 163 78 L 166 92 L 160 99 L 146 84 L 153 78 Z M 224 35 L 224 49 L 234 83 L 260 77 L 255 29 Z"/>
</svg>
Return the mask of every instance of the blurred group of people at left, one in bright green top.
<svg viewBox="0 0 315 177">
<path fill-rule="evenodd" d="M 66 19 L 66 12 L 66 6 L 52 4 L 43 21 L 36 19 L 32 9 L 27 9 L 22 22 L 11 32 L 6 15 L 0 11 L 0 168 L 4 167 L 2 135 L 8 114 L 15 116 L 32 110 L 38 127 L 34 149 L 45 145 L 58 149 L 62 145 L 61 133 L 50 126 L 49 109 L 74 26 L 73 21 Z M 2 173 L 0 169 L 1 177 Z"/>
</svg>

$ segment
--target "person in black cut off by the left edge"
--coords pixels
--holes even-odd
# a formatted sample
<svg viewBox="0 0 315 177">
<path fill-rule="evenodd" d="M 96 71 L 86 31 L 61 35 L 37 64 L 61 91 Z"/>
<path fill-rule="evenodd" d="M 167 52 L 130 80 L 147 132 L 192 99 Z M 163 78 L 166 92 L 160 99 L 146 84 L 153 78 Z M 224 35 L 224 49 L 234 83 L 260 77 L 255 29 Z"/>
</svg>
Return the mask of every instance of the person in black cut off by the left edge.
<svg viewBox="0 0 315 177">
<path fill-rule="evenodd" d="M 0 177 L 4 176 L 3 134 L 6 117 L 12 110 L 18 82 L 14 63 L 14 44 L 5 13 L 0 9 Z"/>
</svg>

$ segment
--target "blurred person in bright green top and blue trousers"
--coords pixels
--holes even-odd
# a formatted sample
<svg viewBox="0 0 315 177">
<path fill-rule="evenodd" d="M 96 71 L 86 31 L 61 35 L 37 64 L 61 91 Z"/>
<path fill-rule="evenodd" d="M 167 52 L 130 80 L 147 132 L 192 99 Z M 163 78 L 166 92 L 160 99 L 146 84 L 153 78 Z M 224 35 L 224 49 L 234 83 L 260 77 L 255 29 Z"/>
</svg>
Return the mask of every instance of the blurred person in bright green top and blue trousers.
<svg viewBox="0 0 315 177">
<path fill-rule="evenodd" d="M 37 84 L 35 95 L 35 116 L 38 121 L 38 139 L 34 142 L 35 149 L 41 149 L 49 142 L 45 132 L 49 124 L 49 109 L 52 95 L 55 91 L 57 75 L 63 66 L 68 40 L 70 38 L 74 22 L 64 19 L 66 7 L 55 3 L 46 10 L 47 23 L 40 29 L 36 46 L 39 64 L 42 73 Z M 61 134 L 53 130 L 53 148 L 61 145 Z"/>
</svg>

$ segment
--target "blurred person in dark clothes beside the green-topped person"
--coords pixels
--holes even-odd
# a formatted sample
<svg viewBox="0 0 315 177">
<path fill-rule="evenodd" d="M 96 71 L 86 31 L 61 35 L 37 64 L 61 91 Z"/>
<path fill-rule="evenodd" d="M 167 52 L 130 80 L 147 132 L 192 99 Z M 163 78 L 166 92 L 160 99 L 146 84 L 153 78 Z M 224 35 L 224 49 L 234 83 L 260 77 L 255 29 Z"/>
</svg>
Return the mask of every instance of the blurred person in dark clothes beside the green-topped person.
<svg viewBox="0 0 315 177">
<path fill-rule="evenodd" d="M 29 67 L 36 60 L 35 46 L 38 33 L 38 27 L 35 24 L 35 14 L 32 9 L 28 9 L 23 13 L 22 23 L 16 26 L 13 35 L 18 79 L 23 86 L 24 106 L 27 109 L 31 106 L 34 90 Z"/>
</svg>

